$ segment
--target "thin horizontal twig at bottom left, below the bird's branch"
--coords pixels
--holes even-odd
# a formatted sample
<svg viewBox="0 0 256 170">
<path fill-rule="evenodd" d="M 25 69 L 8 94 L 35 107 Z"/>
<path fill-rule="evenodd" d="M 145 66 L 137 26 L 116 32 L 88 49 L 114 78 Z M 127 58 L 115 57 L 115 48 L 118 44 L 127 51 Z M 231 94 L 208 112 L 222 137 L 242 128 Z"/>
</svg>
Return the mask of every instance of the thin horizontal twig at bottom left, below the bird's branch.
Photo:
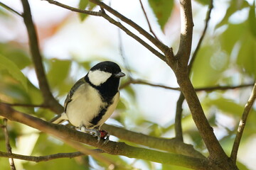
<svg viewBox="0 0 256 170">
<path fill-rule="evenodd" d="M 94 151 L 97 153 L 103 153 L 101 149 L 94 149 Z M 70 152 L 70 153 L 49 154 L 46 156 L 35 157 L 35 156 L 26 156 L 23 154 L 11 154 L 11 153 L 0 151 L 0 157 L 9 157 L 12 159 L 21 159 L 21 160 L 26 160 L 31 162 L 47 162 L 53 159 L 74 158 L 74 157 L 80 157 L 83 155 L 85 154 L 83 154 L 82 152 Z"/>
</svg>

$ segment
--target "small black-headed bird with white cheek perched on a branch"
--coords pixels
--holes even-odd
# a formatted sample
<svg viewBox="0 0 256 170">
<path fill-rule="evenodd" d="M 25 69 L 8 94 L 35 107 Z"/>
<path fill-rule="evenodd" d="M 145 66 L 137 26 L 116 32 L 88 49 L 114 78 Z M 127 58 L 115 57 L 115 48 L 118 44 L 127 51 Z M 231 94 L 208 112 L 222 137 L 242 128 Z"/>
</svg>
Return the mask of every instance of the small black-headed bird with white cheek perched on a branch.
<svg viewBox="0 0 256 170">
<path fill-rule="evenodd" d="M 100 142 L 109 134 L 100 127 L 110 118 L 119 101 L 119 81 L 125 74 L 115 62 L 105 61 L 93 66 L 70 89 L 64 103 L 64 113 L 51 123 L 68 120 L 75 128 L 90 133 Z"/>
</svg>

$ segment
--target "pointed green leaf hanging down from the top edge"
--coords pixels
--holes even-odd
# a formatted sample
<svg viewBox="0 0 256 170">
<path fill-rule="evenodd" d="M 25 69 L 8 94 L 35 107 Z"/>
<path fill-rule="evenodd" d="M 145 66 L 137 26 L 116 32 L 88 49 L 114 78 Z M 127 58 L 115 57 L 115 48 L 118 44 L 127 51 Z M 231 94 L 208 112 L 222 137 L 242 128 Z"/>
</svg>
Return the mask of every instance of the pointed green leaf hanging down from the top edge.
<svg viewBox="0 0 256 170">
<path fill-rule="evenodd" d="M 164 30 L 164 26 L 171 16 L 171 11 L 174 8 L 174 0 L 149 0 L 149 5 L 154 11 L 159 26 Z"/>
</svg>

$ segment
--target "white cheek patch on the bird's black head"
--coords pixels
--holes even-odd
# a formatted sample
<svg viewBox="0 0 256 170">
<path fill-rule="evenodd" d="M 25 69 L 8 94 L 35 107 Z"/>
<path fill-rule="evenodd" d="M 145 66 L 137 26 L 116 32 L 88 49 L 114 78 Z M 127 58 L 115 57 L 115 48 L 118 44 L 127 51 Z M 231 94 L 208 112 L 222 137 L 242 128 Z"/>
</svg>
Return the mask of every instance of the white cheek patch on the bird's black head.
<svg viewBox="0 0 256 170">
<path fill-rule="evenodd" d="M 100 84 L 105 83 L 105 81 L 107 81 L 111 75 L 111 73 L 102 72 L 100 70 L 90 71 L 88 73 L 90 82 L 95 86 L 100 86 Z"/>
</svg>

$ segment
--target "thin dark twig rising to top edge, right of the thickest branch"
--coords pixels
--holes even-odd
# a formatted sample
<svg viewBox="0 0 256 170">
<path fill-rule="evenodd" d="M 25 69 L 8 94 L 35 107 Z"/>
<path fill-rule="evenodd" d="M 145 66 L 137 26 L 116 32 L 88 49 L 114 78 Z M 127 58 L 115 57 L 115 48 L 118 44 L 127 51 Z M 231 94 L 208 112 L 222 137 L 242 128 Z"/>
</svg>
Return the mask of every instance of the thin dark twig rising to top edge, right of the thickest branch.
<svg viewBox="0 0 256 170">
<path fill-rule="evenodd" d="M 196 59 L 196 55 L 198 54 L 198 50 L 200 49 L 201 44 L 203 42 L 203 38 L 205 38 L 206 30 L 208 28 L 208 23 L 210 21 L 210 13 L 211 13 L 212 10 L 213 10 L 213 0 L 210 0 L 209 8 L 208 8 L 208 11 L 207 11 L 207 14 L 206 14 L 206 25 L 205 25 L 205 27 L 203 29 L 203 33 L 201 35 L 201 38 L 198 41 L 198 45 L 196 45 L 196 50 L 193 52 L 193 55 L 191 57 L 191 61 L 188 64 L 188 72 L 189 72 L 189 74 L 191 74 L 191 69 L 193 67 L 193 62 Z"/>
</svg>

